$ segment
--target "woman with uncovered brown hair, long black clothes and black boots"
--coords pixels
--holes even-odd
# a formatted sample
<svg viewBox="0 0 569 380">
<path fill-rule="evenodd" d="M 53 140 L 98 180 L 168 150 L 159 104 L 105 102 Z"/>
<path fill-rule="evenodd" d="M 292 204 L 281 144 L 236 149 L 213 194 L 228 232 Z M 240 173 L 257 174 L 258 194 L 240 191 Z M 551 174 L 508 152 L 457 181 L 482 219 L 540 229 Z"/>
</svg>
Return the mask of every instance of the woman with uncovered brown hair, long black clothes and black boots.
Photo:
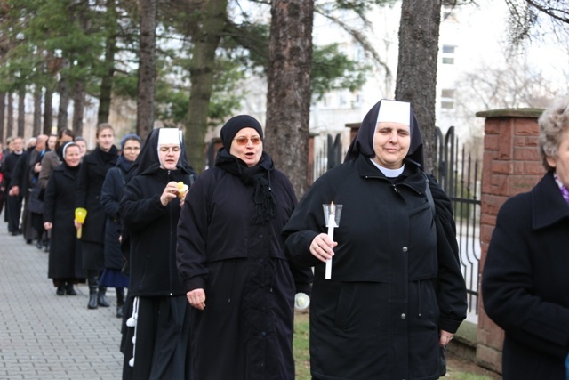
<svg viewBox="0 0 569 380">
<path fill-rule="evenodd" d="M 109 124 L 97 127 L 97 148 L 84 156 L 79 172 L 79 186 L 76 194 L 76 207 L 87 210 L 83 225 L 76 221 L 76 228 L 82 228 L 81 251 L 83 268 L 89 284 L 88 309 L 97 306 L 108 307 L 107 287 L 100 286 L 100 273 L 105 269 L 103 241 L 107 216 L 100 204 L 100 190 L 108 169 L 116 165 L 118 150 L 113 145 L 115 131 Z"/>
</svg>

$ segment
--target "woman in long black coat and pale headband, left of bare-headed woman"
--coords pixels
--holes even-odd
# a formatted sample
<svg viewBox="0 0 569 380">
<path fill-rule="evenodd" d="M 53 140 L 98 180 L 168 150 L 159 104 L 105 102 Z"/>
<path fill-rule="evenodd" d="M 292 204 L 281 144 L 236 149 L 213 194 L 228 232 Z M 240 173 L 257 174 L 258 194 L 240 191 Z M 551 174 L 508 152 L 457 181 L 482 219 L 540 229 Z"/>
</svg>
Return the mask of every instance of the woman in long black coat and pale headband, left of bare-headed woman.
<svg viewBox="0 0 569 380">
<path fill-rule="evenodd" d="M 65 144 L 61 152 L 63 163 L 53 169 L 44 197 L 44 228 L 52 233 L 47 277 L 57 287 L 57 295 L 76 295 L 74 284 L 84 282 L 73 222 L 81 157 L 73 142 Z"/>
</svg>

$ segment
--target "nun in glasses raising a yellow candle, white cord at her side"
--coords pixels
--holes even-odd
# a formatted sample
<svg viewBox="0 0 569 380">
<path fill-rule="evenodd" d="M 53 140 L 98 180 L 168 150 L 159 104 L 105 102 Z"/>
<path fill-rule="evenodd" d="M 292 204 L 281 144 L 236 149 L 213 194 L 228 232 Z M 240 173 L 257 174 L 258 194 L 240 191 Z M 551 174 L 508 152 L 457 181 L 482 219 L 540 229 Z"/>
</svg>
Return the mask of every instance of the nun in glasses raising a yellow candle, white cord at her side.
<svg viewBox="0 0 569 380">
<path fill-rule="evenodd" d="M 123 328 L 124 379 L 189 379 L 190 307 L 176 271 L 176 226 L 196 174 L 176 128 L 149 134 L 124 189 L 130 284 Z"/>
</svg>

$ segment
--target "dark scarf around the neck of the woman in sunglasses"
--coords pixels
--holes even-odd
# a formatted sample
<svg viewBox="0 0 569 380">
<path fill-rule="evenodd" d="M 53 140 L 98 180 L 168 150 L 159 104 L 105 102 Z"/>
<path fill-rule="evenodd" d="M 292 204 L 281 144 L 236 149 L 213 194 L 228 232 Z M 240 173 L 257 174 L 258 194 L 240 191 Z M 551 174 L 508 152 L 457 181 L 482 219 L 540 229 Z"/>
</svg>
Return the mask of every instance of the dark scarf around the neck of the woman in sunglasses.
<svg viewBox="0 0 569 380">
<path fill-rule="evenodd" d="M 252 201 L 255 203 L 256 214 L 252 225 L 267 224 L 276 217 L 276 199 L 270 188 L 270 172 L 274 170 L 273 159 L 263 152 L 259 164 L 248 167 L 240 158 L 221 149 L 215 159 L 215 166 L 241 179 L 246 186 L 252 186 Z"/>
</svg>

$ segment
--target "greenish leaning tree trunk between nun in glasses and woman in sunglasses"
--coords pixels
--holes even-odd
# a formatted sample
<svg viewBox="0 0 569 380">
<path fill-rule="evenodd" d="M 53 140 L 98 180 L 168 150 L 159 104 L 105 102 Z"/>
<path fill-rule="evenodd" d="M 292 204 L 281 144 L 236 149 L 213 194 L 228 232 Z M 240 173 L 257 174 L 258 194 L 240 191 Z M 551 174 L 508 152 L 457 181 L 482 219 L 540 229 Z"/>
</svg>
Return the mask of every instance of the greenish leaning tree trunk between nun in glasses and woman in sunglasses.
<svg viewBox="0 0 569 380">
<path fill-rule="evenodd" d="M 198 173 L 205 166 L 205 131 L 213 90 L 215 51 L 227 21 L 228 0 L 208 0 L 201 28 L 194 36 L 194 51 L 189 64 L 191 89 L 188 104 L 186 147 L 189 162 Z"/>
</svg>

